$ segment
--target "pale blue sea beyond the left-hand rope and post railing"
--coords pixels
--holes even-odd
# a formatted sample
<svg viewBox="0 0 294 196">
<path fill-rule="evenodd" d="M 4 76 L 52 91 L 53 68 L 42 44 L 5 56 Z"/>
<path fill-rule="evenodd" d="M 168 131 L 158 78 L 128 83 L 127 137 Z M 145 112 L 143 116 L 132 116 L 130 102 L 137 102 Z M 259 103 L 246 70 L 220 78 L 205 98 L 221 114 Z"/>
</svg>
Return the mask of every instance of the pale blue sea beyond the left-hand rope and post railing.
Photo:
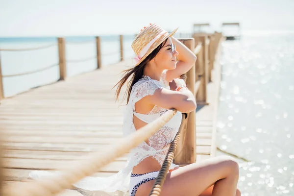
<svg viewBox="0 0 294 196">
<path fill-rule="evenodd" d="M 134 57 L 131 43 L 135 35 L 123 36 L 124 58 Z M 97 49 L 94 36 L 65 37 L 67 76 L 90 72 L 97 69 Z M 36 50 L 0 51 L 2 75 L 29 73 L 25 75 L 3 77 L 4 96 L 10 97 L 31 88 L 55 82 L 59 79 L 59 56 L 56 37 L 0 38 L 0 49 Z M 121 58 L 120 37 L 101 36 L 101 64 L 110 66 Z"/>
</svg>

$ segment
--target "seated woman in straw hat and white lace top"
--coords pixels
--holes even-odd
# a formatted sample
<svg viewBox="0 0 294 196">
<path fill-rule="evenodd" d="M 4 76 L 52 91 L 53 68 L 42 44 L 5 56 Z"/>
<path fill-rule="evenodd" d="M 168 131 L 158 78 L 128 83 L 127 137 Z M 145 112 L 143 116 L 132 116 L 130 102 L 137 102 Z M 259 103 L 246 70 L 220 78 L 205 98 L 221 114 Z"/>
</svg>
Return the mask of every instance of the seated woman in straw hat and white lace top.
<svg viewBox="0 0 294 196">
<path fill-rule="evenodd" d="M 155 24 L 141 30 L 132 43 L 137 54 L 136 65 L 126 70 L 117 83 L 116 96 L 119 97 L 121 88 L 128 82 L 124 135 L 154 121 L 170 108 L 178 112 L 147 141 L 130 151 L 125 169 L 107 178 L 86 177 L 74 184 L 75 190 L 83 195 L 101 196 L 103 192 L 113 196 L 147 196 L 150 193 L 179 129 L 181 112 L 196 109 L 193 94 L 184 80 L 179 79 L 195 64 L 196 56 L 172 37 L 176 30 L 168 33 Z M 30 177 L 36 179 L 41 175 L 45 173 L 34 172 Z M 238 164 L 226 156 L 181 168 L 172 164 L 161 196 L 240 196 L 236 188 L 238 178 Z"/>
</svg>

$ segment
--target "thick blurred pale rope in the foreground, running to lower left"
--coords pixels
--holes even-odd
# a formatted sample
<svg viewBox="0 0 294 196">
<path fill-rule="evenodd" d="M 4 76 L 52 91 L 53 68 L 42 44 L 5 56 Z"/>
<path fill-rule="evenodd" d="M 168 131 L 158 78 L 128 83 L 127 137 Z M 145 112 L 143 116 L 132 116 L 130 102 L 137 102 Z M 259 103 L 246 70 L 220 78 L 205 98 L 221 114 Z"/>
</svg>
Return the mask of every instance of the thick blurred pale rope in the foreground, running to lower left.
<svg viewBox="0 0 294 196">
<path fill-rule="evenodd" d="M 126 136 L 103 152 L 91 153 L 84 160 L 68 165 L 66 169 L 59 172 L 59 175 L 20 184 L 17 189 L 7 186 L 4 189 L 4 196 L 53 196 L 64 189 L 71 189 L 74 183 L 92 175 L 99 168 L 114 161 L 117 157 L 123 156 L 129 150 L 147 140 L 169 122 L 176 112 L 175 109 L 167 111 L 152 123 L 148 123 L 133 134 Z"/>
</svg>

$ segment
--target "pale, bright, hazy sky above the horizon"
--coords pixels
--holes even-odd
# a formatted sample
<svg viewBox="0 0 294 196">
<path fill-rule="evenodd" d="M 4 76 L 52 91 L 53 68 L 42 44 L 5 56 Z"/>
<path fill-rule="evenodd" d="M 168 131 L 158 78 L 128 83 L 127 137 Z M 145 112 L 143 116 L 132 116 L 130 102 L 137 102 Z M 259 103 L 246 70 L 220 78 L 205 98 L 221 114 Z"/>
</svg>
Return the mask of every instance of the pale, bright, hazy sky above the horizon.
<svg viewBox="0 0 294 196">
<path fill-rule="evenodd" d="M 134 34 L 149 23 L 294 30 L 294 0 L 0 0 L 0 37 Z"/>
</svg>

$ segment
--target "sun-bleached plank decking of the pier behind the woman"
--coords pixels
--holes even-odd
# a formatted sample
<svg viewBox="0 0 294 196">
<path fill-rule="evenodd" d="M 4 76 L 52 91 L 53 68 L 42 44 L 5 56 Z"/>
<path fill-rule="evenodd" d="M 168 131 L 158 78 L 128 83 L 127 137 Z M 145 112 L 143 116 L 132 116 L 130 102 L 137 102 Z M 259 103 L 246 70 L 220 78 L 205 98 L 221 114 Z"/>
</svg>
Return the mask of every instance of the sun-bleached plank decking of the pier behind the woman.
<svg viewBox="0 0 294 196">
<path fill-rule="evenodd" d="M 122 137 L 124 106 L 115 102 L 111 88 L 129 64 L 123 61 L 1 100 L 5 183 L 25 183 L 32 170 L 64 168 Z M 208 84 L 210 104 L 198 106 L 196 112 L 197 161 L 215 156 L 219 64 L 213 75 L 214 82 Z M 125 161 L 126 156 L 120 157 L 95 175 L 118 172 Z"/>
</svg>

